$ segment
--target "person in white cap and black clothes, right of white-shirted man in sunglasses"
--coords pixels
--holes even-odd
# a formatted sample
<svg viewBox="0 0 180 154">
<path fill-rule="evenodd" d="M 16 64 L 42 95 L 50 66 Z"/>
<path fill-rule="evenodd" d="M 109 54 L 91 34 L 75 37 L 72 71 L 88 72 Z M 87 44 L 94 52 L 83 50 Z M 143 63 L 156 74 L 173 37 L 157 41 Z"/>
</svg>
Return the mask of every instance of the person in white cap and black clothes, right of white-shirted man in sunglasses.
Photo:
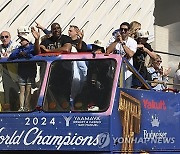
<svg viewBox="0 0 180 154">
<path fill-rule="evenodd" d="M 137 51 L 133 56 L 133 65 L 136 70 L 142 75 L 145 80 L 152 80 L 151 75 L 148 73 L 145 66 L 145 58 L 149 55 L 151 58 L 155 59 L 156 54 L 153 52 L 151 45 L 147 43 L 149 37 L 149 32 L 146 30 L 139 30 L 137 32 Z M 141 82 L 133 75 L 133 87 L 141 87 Z"/>
</svg>

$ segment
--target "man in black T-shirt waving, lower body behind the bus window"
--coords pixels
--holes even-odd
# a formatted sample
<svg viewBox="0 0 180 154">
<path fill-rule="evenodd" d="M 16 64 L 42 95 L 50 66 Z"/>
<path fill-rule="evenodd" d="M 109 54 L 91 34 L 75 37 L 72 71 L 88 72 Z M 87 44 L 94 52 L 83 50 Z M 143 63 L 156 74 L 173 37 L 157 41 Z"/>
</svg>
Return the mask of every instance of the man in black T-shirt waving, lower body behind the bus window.
<svg viewBox="0 0 180 154">
<path fill-rule="evenodd" d="M 40 34 L 34 27 L 31 29 L 32 34 L 35 38 L 35 52 L 40 53 L 69 53 L 72 48 L 72 40 L 69 36 L 61 34 L 61 27 L 58 23 L 51 25 L 50 37 L 45 38 L 39 45 Z M 51 78 L 49 81 L 50 92 L 53 94 L 53 100 L 57 100 L 56 105 L 60 106 L 57 110 L 69 110 L 69 100 L 71 93 L 72 83 L 72 63 L 71 61 L 57 62 L 53 64 L 51 70 Z M 63 75 L 62 75 L 63 74 Z M 48 93 L 48 94 L 49 94 Z M 50 102 L 48 102 L 50 103 Z"/>
</svg>

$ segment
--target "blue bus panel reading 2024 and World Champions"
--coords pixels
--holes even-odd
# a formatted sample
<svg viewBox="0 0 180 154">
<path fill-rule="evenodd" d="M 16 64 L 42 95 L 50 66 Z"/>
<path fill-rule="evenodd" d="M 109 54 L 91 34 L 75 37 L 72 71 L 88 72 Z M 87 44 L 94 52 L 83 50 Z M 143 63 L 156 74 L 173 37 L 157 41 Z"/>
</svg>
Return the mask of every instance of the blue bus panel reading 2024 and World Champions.
<svg viewBox="0 0 180 154">
<path fill-rule="evenodd" d="M 1 150 L 110 151 L 110 116 L 92 113 L 1 114 Z"/>
</svg>

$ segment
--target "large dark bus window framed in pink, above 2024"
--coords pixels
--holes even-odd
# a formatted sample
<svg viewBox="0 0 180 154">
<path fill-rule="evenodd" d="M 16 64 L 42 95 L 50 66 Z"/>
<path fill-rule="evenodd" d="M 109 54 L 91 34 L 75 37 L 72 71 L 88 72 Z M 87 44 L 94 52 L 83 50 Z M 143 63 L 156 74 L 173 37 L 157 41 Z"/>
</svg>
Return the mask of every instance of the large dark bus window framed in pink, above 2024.
<svg viewBox="0 0 180 154">
<path fill-rule="evenodd" d="M 110 103 L 115 67 L 112 59 L 53 62 L 44 110 L 105 111 Z"/>
</svg>

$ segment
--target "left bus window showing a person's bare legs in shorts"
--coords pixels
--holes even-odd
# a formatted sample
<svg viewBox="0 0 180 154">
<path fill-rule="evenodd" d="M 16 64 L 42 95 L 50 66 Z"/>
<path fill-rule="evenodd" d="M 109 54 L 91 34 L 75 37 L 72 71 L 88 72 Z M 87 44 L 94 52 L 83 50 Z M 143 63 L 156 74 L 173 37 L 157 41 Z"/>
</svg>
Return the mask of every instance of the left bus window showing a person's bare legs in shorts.
<svg viewBox="0 0 180 154">
<path fill-rule="evenodd" d="M 18 62 L 0 64 L 1 112 L 28 112 L 37 105 L 40 88 L 42 62 Z"/>
</svg>

